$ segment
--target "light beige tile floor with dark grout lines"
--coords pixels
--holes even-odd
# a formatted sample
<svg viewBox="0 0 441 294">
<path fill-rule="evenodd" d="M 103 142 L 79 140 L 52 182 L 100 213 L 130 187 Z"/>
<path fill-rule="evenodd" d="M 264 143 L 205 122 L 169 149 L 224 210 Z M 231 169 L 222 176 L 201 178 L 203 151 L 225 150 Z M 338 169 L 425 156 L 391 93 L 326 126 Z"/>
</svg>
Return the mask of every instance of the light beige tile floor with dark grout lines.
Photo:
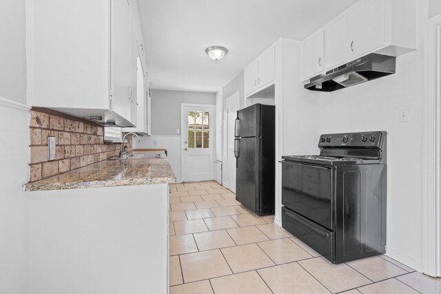
<svg viewBox="0 0 441 294">
<path fill-rule="evenodd" d="M 331 264 L 217 182 L 170 185 L 170 293 L 441 294 L 386 255 Z"/>
</svg>

